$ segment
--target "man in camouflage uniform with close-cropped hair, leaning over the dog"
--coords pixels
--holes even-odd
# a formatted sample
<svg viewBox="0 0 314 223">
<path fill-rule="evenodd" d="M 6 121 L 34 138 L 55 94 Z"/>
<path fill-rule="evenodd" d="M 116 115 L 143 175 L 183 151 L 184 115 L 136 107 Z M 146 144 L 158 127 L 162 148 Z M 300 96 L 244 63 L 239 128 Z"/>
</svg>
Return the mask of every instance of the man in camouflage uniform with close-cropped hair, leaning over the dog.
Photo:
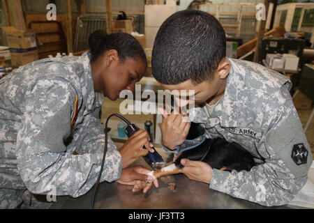
<svg viewBox="0 0 314 223">
<path fill-rule="evenodd" d="M 190 108 L 188 117 L 205 128 L 207 138 L 235 142 L 257 162 L 251 171 L 228 172 L 183 159 L 188 178 L 263 206 L 287 204 L 304 186 L 313 157 L 290 80 L 257 63 L 227 58 L 225 32 L 212 15 L 184 10 L 169 17 L 156 36 L 152 71 L 165 89 L 195 91 L 200 107 Z M 182 149 L 190 126 L 183 118 L 164 118 L 166 151 Z"/>
</svg>

